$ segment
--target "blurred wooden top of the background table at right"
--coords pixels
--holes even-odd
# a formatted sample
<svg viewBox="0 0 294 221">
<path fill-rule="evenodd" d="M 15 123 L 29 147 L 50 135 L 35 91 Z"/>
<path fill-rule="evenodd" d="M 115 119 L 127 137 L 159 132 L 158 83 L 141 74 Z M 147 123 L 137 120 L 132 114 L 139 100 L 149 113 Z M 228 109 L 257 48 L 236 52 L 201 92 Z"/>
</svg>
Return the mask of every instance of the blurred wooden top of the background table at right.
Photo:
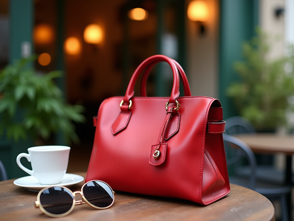
<svg viewBox="0 0 294 221">
<path fill-rule="evenodd" d="M 280 136 L 275 133 L 234 135 L 244 141 L 255 153 L 294 154 L 294 136 Z"/>
</svg>

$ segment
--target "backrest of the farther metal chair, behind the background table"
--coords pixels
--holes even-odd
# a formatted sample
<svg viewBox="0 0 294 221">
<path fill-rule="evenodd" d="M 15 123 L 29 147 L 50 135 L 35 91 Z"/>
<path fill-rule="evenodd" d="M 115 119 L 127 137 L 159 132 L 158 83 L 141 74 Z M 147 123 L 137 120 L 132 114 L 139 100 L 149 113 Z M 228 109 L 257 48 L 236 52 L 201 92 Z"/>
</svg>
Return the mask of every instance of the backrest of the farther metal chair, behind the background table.
<svg viewBox="0 0 294 221">
<path fill-rule="evenodd" d="M 252 123 L 241 116 L 230 117 L 225 120 L 225 133 L 229 135 L 238 133 L 256 133 Z"/>
</svg>

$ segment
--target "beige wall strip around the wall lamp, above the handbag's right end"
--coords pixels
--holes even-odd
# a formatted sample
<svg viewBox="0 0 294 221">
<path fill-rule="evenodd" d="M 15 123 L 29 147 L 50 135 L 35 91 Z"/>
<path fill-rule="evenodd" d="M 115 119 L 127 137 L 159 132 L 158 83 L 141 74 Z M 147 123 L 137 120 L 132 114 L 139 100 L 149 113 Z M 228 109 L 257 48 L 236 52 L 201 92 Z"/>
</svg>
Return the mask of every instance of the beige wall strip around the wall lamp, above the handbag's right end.
<svg viewBox="0 0 294 221">
<path fill-rule="evenodd" d="M 186 0 L 186 4 L 190 0 Z M 196 22 L 186 21 L 187 70 L 193 96 L 218 97 L 218 17 L 219 1 L 207 0 L 209 20 L 201 36 Z"/>
</svg>

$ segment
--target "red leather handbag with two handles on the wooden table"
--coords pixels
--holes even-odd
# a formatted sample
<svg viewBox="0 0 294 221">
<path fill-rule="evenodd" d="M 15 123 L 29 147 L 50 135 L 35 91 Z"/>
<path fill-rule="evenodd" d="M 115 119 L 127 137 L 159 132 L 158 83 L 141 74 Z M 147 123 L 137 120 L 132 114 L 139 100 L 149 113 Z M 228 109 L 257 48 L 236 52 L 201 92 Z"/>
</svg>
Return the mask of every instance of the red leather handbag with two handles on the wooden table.
<svg viewBox="0 0 294 221">
<path fill-rule="evenodd" d="M 146 79 L 158 62 L 173 71 L 170 98 L 147 97 Z M 134 86 L 144 71 L 141 97 Z M 179 77 L 184 97 L 179 97 Z M 219 100 L 191 96 L 185 72 L 174 60 L 154 55 L 135 70 L 124 97 L 99 108 L 86 182 L 99 179 L 114 190 L 188 199 L 208 205 L 230 192 Z"/>
</svg>

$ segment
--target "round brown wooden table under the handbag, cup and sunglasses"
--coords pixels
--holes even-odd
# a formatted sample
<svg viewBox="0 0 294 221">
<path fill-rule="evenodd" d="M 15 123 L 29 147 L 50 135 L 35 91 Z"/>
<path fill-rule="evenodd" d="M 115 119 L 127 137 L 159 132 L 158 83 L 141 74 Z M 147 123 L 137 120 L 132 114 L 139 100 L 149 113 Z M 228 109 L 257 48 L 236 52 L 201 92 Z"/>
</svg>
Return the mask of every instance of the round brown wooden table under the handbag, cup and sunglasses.
<svg viewBox="0 0 294 221">
<path fill-rule="evenodd" d="M 80 190 L 83 183 L 71 189 Z M 36 192 L 15 186 L 13 179 L 0 182 L 0 220 L 275 220 L 273 205 L 267 198 L 235 184 L 231 184 L 230 194 L 208 206 L 181 199 L 116 192 L 114 204 L 108 209 L 97 210 L 80 204 L 61 218 L 42 214 L 34 207 L 36 198 Z"/>
</svg>

